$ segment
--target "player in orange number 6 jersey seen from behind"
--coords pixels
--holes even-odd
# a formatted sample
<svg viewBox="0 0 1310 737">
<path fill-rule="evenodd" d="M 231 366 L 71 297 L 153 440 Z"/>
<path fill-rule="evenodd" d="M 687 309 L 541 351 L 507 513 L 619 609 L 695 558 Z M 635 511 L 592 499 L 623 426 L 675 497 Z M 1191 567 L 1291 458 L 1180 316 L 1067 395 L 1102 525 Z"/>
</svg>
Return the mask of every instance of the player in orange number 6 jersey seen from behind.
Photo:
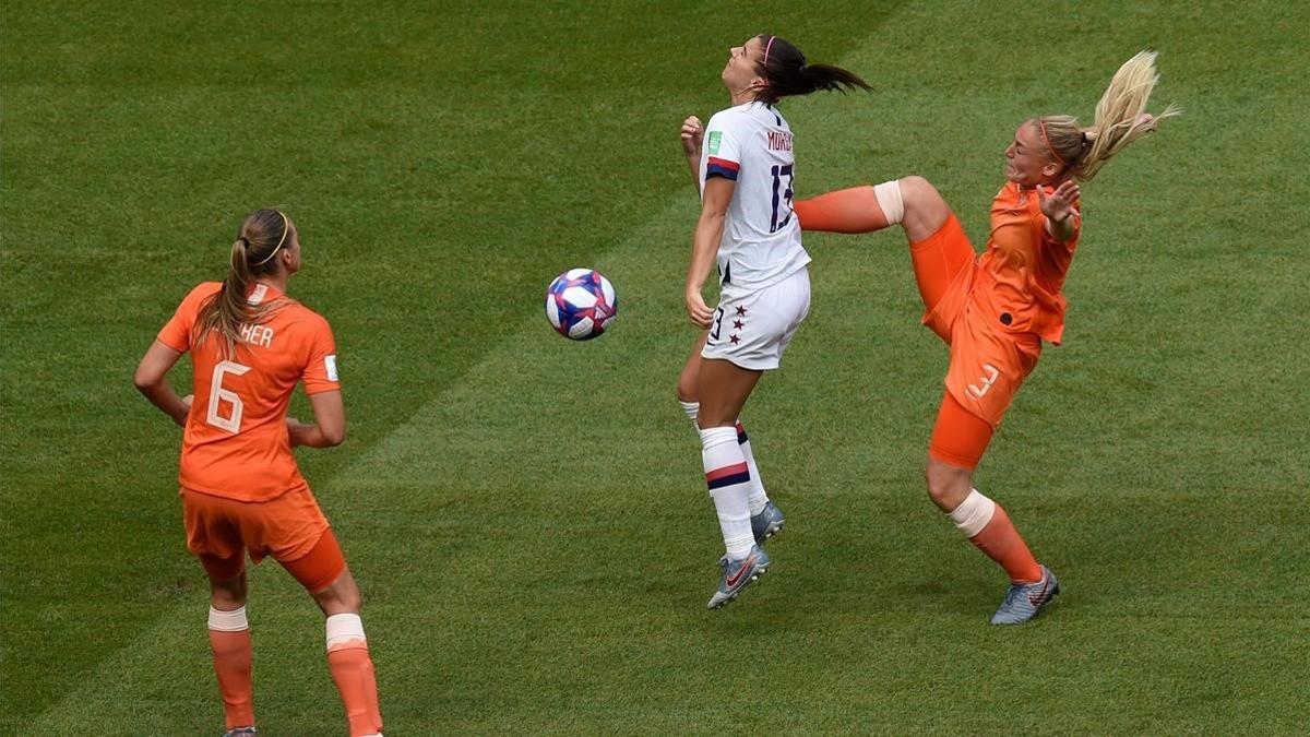
<svg viewBox="0 0 1310 737">
<path fill-rule="evenodd" d="M 300 269 L 295 223 L 259 210 L 241 223 L 224 282 L 191 290 L 136 368 L 136 387 L 183 428 L 178 492 L 187 549 L 210 577 L 210 645 L 228 736 L 255 734 L 245 556 L 280 563 L 326 620 L 328 665 L 350 733 L 380 734 L 360 597 L 328 519 L 291 454 L 346 435 L 328 321 L 287 296 Z M 166 374 L 191 353 L 191 396 Z M 314 421 L 287 417 L 303 383 Z"/>
</svg>

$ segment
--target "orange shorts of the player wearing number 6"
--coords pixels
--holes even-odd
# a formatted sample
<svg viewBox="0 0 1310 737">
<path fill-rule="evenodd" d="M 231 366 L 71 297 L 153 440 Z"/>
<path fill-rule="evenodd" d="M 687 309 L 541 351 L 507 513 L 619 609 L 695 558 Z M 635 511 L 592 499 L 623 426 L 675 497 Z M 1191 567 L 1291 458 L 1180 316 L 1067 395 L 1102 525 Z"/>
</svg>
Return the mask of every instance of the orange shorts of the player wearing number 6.
<svg viewBox="0 0 1310 737">
<path fill-rule="evenodd" d="M 346 569 L 337 535 L 309 487 L 265 502 L 244 502 L 181 489 L 186 548 L 211 578 L 227 581 L 245 569 L 245 553 L 280 563 L 305 589 L 318 591 Z"/>
</svg>

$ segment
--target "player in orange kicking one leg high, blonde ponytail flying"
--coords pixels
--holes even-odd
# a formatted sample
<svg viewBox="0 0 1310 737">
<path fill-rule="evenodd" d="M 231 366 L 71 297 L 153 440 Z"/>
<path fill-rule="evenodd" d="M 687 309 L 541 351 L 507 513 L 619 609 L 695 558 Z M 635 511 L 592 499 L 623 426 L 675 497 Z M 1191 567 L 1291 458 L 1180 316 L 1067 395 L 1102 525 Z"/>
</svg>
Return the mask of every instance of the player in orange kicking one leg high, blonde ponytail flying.
<svg viewBox="0 0 1310 737">
<path fill-rule="evenodd" d="M 1010 576 L 993 624 L 1036 616 L 1060 591 L 1009 515 L 973 487 L 973 471 L 1010 401 L 1064 330 L 1062 287 L 1078 235 L 1079 181 L 1155 130 L 1146 113 L 1155 54 L 1124 63 L 1083 127 L 1070 115 L 1024 121 L 1005 149 L 1006 184 L 992 201 L 992 235 L 976 254 L 959 220 L 922 177 L 796 202 L 807 231 L 863 233 L 900 224 L 909 240 L 924 323 L 950 345 L 946 391 L 927 451 L 927 493 Z"/>
</svg>

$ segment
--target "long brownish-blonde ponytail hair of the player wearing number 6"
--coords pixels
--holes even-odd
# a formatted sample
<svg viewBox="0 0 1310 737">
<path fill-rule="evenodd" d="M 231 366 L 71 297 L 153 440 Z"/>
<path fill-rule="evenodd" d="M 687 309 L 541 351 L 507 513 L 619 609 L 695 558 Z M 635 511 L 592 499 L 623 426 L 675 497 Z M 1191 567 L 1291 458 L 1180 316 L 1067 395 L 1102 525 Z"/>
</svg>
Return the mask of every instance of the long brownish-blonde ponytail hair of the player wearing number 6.
<svg viewBox="0 0 1310 737">
<path fill-rule="evenodd" d="M 276 271 L 274 257 L 291 243 L 291 220 L 280 210 L 257 210 L 241 223 L 237 240 L 232 243 L 228 275 L 196 315 L 194 342 L 217 333 L 224 338 L 224 357 L 232 358 L 236 345 L 245 342 L 241 325 L 266 320 L 286 304 L 284 299 L 250 304 L 246 292 L 257 277 Z"/>
</svg>

